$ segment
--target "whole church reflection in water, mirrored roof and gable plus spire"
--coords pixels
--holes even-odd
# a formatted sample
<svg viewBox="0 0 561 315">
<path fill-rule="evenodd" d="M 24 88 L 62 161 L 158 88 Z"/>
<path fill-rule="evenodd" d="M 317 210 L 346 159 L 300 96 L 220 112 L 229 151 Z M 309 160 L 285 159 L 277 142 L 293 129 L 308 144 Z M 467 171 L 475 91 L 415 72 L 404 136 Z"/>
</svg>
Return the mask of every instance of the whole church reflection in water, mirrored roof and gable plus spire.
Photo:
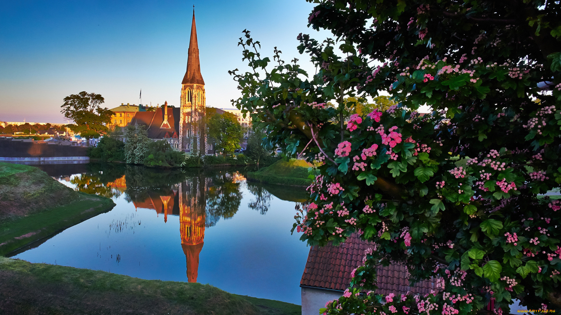
<svg viewBox="0 0 561 315">
<path fill-rule="evenodd" d="M 163 214 L 167 223 L 168 215 L 180 217 L 181 247 L 187 263 L 187 279 L 197 282 L 199 254 L 203 249 L 206 222 L 206 193 L 212 186 L 208 178 L 192 178 L 178 183 L 171 193 L 159 196 L 149 193 L 144 201 L 136 202 L 136 208 L 154 209 L 157 215 Z M 212 223 L 210 223 L 212 224 Z"/>
</svg>

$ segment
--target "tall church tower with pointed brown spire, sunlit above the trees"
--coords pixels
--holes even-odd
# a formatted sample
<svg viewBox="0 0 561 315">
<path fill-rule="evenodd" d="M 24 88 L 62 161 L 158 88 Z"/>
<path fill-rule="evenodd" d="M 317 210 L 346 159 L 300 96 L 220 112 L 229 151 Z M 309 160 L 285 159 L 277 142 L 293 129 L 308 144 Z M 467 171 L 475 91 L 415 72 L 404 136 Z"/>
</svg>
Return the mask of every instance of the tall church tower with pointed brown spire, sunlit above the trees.
<svg viewBox="0 0 561 315">
<path fill-rule="evenodd" d="M 204 117 L 206 113 L 205 81 L 201 75 L 199 44 L 195 26 L 195 8 L 187 55 L 187 71 L 181 82 L 180 150 L 203 155 L 208 152 Z"/>
</svg>

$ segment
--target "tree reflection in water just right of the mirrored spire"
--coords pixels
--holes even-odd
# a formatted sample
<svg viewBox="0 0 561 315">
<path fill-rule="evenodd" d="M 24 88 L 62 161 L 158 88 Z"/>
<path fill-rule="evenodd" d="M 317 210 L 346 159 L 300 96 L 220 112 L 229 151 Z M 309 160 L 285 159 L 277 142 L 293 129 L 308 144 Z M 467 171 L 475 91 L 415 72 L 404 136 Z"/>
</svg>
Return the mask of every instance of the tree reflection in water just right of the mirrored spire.
<svg viewBox="0 0 561 315">
<path fill-rule="evenodd" d="M 207 215 L 215 218 L 223 217 L 224 219 L 233 217 L 240 209 L 242 201 L 240 183 L 235 183 L 232 173 L 226 171 L 215 174 L 211 179 L 213 186 L 210 187 L 206 195 Z"/>
</svg>

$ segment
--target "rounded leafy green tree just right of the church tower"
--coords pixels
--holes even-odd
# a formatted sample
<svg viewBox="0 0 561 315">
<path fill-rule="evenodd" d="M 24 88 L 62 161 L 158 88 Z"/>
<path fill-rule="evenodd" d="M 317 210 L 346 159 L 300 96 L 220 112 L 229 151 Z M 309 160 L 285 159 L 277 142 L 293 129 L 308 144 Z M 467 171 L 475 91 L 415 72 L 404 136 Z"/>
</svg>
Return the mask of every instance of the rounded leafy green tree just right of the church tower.
<svg viewBox="0 0 561 315">
<path fill-rule="evenodd" d="M 222 152 L 224 156 L 241 148 L 242 128 L 232 113 L 214 114 L 208 120 L 208 134 L 214 140 L 214 151 Z"/>
</svg>

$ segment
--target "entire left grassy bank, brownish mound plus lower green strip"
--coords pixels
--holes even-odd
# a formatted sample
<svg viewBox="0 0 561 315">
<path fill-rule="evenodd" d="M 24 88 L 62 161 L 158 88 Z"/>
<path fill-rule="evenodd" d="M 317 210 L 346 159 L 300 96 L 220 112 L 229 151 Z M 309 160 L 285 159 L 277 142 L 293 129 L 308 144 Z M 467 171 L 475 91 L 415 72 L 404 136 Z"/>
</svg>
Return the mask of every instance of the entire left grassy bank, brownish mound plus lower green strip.
<svg viewBox="0 0 561 315">
<path fill-rule="evenodd" d="M 34 166 L 0 163 L 0 256 L 111 210 L 109 198 L 79 193 Z"/>
</svg>

